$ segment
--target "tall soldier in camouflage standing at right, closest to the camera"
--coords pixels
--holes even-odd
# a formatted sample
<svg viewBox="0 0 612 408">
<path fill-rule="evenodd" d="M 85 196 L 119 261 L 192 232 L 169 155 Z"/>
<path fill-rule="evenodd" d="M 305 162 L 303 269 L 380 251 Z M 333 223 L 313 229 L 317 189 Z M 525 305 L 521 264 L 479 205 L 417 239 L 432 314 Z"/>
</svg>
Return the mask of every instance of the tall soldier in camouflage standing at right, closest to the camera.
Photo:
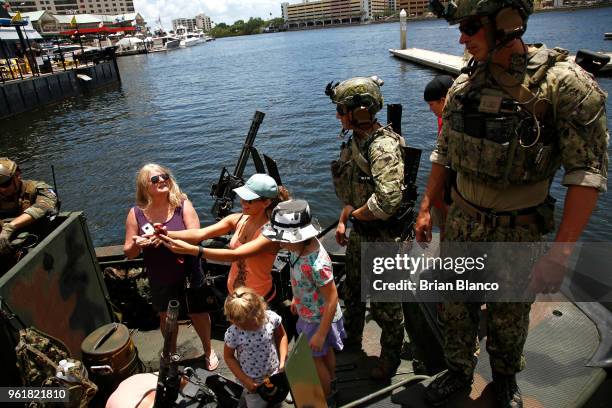
<svg viewBox="0 0 612 408">
<path fill-rule="evenodd" d="M 599 192 L 606 191 L 608 132 L 605 93 L 567 58 L 567 52 L 521 40 L 529 0 L 456 0 L 444 11 L 459 23 L 460 43 L 473 55 L 468 73 L 450 89 L 443 128 L 416 223 L 416 238 L 431 239 L 431 203 L 443 194 L 445 165 L 457 171 L 446 224 L 447 241 L 530 242 L 554 230 L 547 199 L 561 165 L 568 187 L 555 242 L 575 242 Z M 439 13 L 439 14 L 442 14 Z M 535 261 L 531 293 L 559 290 L 571 245 L 553 246 Z M 531 303 L 488 303 L 487 351 L 499 406 L 522 407 L 516 373 Z M 442 405 L 469 390 L 476 365 L 478 303 L 444 305 L 448 372 L 425 392 Z"/>
</svg>

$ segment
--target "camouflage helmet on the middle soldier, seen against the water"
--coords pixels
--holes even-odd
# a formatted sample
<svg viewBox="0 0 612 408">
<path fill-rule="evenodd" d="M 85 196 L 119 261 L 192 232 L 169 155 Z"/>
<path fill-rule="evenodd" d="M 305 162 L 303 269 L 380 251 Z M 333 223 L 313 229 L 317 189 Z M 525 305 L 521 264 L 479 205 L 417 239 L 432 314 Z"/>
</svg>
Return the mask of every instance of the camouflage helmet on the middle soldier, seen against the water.
<svg viewBox="0 0 612 408">
<path fill-rule="evenodd" d="M 383 84 L 383 80 L 376 76 L 355 77 L 335 85 L 330 82 L 325 88 L 325 94 L 337 105 L 349 109 L 363 106 L 375 114 L 383 107 L 384 99 L 380 92 Z"/>
</svg>

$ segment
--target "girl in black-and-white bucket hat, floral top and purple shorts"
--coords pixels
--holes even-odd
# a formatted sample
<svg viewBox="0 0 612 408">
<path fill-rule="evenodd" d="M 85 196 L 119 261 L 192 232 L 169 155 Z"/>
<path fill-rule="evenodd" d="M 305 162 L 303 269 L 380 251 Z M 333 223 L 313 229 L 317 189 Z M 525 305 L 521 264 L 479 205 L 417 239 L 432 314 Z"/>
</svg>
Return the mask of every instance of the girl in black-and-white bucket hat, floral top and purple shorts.
<svg viewBox="0 0 612 408">
<path fill-rule="evenodd" d="M 336 372 L 334 349 L 342 350 L 346 338 L 332 262 L 312 225 L 310 208 L 304 200 L 290 200 L 272 210 L 262 235 L 290 251 L 291 310 L 299 318 L 298 333 L 308 338 L 321 385 L 328 400 L 333 399 L 332 381 Z"/>
</svg>

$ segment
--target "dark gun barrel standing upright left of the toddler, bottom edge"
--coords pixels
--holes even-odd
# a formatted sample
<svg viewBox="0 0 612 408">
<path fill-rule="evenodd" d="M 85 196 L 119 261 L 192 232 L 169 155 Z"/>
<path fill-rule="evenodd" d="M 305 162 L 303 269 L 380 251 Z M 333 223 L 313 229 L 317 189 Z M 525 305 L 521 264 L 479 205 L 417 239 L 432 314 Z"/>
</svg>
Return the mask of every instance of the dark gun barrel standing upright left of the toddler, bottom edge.
<svg viewBox="0 0 612 408">
<path fill-rule="evenodd" d="M 178 397 L 180 376 L 178 372 L 178 355 L 172 353 L 172 338 L 177 329 L 179 302 L 168 302 L 166 325 L 164 327 L 164 348 L 159 362 L 159 376 L 153 408 L 168 408 Z"/>
</svg>

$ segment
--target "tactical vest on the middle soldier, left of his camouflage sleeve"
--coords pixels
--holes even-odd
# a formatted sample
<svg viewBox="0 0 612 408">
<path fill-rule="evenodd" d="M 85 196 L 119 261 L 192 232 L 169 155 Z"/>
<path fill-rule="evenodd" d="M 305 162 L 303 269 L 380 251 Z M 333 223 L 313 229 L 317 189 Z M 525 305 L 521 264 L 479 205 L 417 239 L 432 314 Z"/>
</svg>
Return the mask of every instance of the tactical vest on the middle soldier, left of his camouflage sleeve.
<svg viewBox="0 0 612 408">
<path fill-rule="evenodd" d="M 368 152 L 372 142 L 383 135 L 396 138 L 400 146 L 405 145 L 402 136 L 385 126 L 372 133 L 364 142 L 363 150 Z M 361 154 L 357 141 L 352 136 L 348 141 L 342 142 L 340 158 L 332 161 L 331 172 L 336 196 L 345 205 L 361 207 L 374 193 L 375 185 L 369 159 Z"/>
</svg>

